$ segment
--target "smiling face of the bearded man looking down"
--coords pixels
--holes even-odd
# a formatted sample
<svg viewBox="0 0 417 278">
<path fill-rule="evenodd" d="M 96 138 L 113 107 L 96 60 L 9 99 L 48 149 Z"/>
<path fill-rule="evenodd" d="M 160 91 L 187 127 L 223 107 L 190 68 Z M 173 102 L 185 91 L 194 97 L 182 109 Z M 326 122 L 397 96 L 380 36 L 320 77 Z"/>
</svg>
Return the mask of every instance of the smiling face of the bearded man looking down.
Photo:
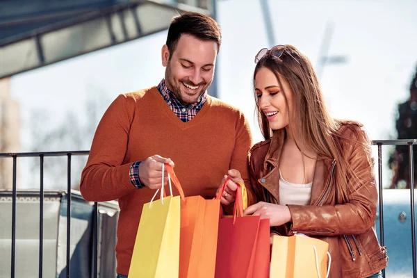
<svg viewBox="0 0 417 278">
<path fill-rule="evenodd" d="M 193 104 L 213 81 L 216 42 L 199 40 L 183 34 L 170 57 L 167 46 L 162 47 L 162 64 L 166 67 L 165 83 L 182 104 Z"/>
</svg>

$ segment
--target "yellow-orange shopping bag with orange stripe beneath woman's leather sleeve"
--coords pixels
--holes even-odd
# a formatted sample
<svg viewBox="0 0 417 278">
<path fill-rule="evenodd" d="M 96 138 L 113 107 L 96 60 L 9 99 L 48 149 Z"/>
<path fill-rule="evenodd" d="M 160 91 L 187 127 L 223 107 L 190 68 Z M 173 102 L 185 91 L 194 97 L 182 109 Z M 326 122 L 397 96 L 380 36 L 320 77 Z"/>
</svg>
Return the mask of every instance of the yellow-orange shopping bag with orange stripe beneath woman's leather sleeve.
<svg viewBox="0 0 417 278">
<path fill-rule="evenodd" d="M 329 244 L 309 236 L 274 236 L 271 278 L 324 278 L 329 276 L 332 258 Z M 329 266 L 327 268 L 327 256 Z"/>
</svg>

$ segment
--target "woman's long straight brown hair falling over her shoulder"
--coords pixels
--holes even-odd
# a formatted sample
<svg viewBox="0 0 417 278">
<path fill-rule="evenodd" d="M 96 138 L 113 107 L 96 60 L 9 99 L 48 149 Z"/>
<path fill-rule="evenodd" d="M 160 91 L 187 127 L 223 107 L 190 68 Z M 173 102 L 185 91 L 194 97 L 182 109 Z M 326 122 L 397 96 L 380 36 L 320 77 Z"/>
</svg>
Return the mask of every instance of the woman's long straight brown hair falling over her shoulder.
<svg viewBox="0 0 417 278">
<path fill-rule="evenodd" d="M 254 88 L 256 87 L 256 73 L 263 67 L 275 74 L 281 90 L 284 90 L 282 86 L 282 80 L 284 79 L 293 91 L 293 111 L 288 106 L 288 100 L 285 97 L 287 92 L 283 94 L 286 106 L 288 107 L 288 126 L 290 126 L 288 132 L 292 133 L 295 144 L 303 154 L 303 163 L 306 147 L 318 154 L 317 159 L 332 158 L 336 160 L 337 166 L 334 172 L 335 186 L 332 186 L 334 194 L 329 194 L 329 197 L 333 196 L 335 202 L 338 204 L 349 202 L 348 195 L 350 192 L 348 190 L 347 180 L 352 178 L 357 179 L 357 175 L 343 154 L 342 144 L 343 140 L 346 142 L 347 138 L 342 138 L 341 140 L 341 135 L 338 133 L 340 127 L 347 121 L 336 120 L 329 115 L 316 72 L 313 70 L 309 58 L 289 44 L 286 44 L 284 53 L 280 58 L 275 58 L 270 53 L 266 54 L 256 64 L 254 70 Z M 254 97 L 256 99 L 259 127 L 263 137 L 267 140 L 272 137 L 274 131 L 270 128 L 265 114 L 259 108 L 259 98 L 256 97 L 256 92 L 254 92 Z M 359 124 L 357 122 L 351 123 Z M 366 135 L 362 134 L 361 136 Z M 368 144 L 368 138 L 363 139 L 361 142 Z M 349 143 L 348 141 L 347 143 Z M 368 147 L 366 147 L 366 152 L 368 152 L 368 161 L 370 161 L 370 149 Z M 370 163 L 372 162 L 370 161 Z"/>
</svg>

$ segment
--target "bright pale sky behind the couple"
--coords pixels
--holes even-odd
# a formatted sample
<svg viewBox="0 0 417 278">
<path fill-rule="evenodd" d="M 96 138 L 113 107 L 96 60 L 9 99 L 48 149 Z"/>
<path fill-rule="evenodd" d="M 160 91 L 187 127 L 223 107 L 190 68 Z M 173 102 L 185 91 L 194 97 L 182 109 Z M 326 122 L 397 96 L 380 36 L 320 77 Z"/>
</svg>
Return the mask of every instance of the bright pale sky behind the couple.
<svg viewBox="0 0 417 278">
<path fill-rule="evenodd" d="M 273 44 L 293 44 L 318 65 L 326 26 L 334 31 L 328 56 L 345 63 L 325 65 L 320 85 L 334 117 L 362 122 L 373 140 L 395 138 L 398 103 L 409 96 L 417 65 L 417 1 L 272 1 L 268 2 Z M 216 67 L 218 97 L 241 108 L 252 127 L 254 142 L 262 140 L 254 117 L 254 56 L 268 45 L 258 0 L 218 1 L 222 47 Z M 120 93 L 158 84 L 165 68 L 161 47 L 167 32 L 102 49 L 11 79 L 11 94 L 21 104 L 20 152 L 33 148 L 31 117 L 42 109 L 44 132 L 66 122 L 71 111 L 86 122 L 85 102 L 96 101 L 101 117 Z M 97 125 L 99 117 L 95 120 Z M 90 137 L 82 143 L 89 149 Z M 42 151 L 72 150 L 71 144 L 45 146 Z M 388 149 L 384 149 L 386 155 Z M 386 156 L 384 165 L 386 164 Z M 385 171 L 388 181 L 389 172 Z"/>
</svg>

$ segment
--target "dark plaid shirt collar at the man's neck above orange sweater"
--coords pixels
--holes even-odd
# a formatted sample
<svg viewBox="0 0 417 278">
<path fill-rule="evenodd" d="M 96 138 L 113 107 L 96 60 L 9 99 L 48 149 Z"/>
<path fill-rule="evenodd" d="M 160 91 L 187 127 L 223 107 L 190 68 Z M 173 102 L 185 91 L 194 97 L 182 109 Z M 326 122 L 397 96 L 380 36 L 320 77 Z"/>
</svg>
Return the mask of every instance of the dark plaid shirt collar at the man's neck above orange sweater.
<svg viewBox="0 0 417 278">
<path fill-rule="evenodd" d="M 167 88 L 165 79 L 162 79 L 157 88 L 168 106 L 170 106 L 171 110 L 183 122 L 188 122 L 189 120 L 193 119 L 193 117 L 197 115 L 207 99 L 206 91 L 198 98 L 197 102 L 184 106 L 181 104 L 181 101 L 177 99 L 174 93 Z"/>
</svg>

